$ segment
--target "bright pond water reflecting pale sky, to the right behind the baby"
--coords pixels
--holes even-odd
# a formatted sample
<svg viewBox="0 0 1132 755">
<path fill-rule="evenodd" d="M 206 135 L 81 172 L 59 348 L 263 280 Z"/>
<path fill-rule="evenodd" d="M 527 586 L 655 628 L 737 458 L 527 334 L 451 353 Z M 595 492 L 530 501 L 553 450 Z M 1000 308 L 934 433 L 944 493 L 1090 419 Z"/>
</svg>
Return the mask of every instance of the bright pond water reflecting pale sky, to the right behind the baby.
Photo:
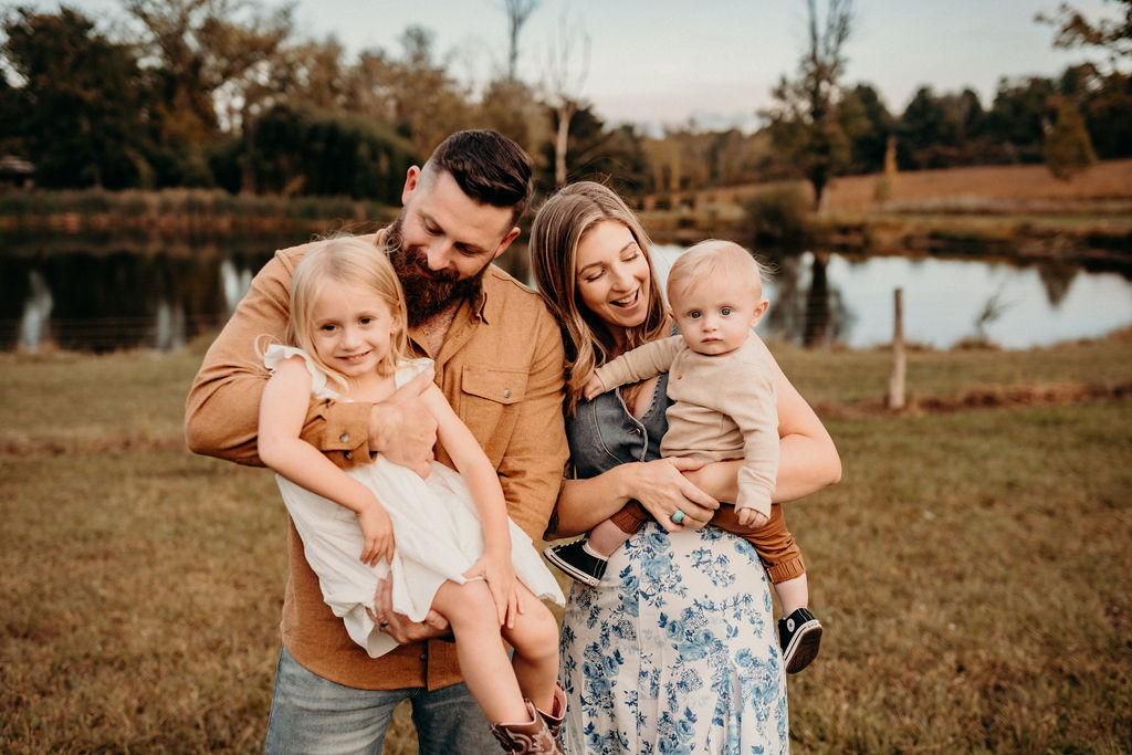
<svg viewBox="0 0 1132 755">
<path fill-rule="evenodd" d="M 657 248 L 662 276 L 680 251 Z M 813 252 L 771 261 L 771 309 L 758 331 L 795 343 L 865 349 L 891 342 L 898 288 L 904 337 L 937 349 L 980 336 L 1026 349 L 1132 325 L 1132 282 L 1067 264 Z"/>
</svg>

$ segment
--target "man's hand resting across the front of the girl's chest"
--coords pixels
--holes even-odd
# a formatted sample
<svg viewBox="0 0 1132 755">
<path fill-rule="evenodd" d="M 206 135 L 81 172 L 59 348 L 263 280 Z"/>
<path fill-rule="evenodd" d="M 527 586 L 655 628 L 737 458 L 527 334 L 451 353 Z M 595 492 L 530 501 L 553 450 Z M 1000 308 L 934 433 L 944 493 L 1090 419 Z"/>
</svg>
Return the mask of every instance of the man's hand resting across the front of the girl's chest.
<svg viewBox="0 0 1132 755">
<path fill-rule="evenodd" d="M 436 445 L 436 418 L 421 394 L 432 386 L 435 372 L 427 369 L 374 404 L 369 415 L 369 447 L 394 464 L 427 478 Z"/>
</svg>

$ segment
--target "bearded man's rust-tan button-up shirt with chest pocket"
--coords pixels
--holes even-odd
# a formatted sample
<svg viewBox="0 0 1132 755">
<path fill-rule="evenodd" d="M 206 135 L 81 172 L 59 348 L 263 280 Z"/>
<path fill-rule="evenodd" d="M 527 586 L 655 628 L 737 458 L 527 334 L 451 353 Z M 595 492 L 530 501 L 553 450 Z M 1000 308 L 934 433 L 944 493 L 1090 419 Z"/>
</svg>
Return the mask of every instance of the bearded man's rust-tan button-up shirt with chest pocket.
<svg viewBox="0 0 1132 755">
<path fill-rule="evenodd" d="M 380 254 L 384 231 L 367 238 Z M 268 374 L 257 341 L 267 336 L 283 342 L 291 274 L 308 248 L 275 254 L 208 349 L 186 406 L 186 435 L 195 452 L 260 464 L 256 431 Z M 492 265 L 479 299 L 456 312 L 439 353 L 428 353 L 421 333 L 412 331 L 410 336 L 418 352 L 436 361 L 437 385 L 496 466 L 508 514 L 538 543 L 568 455 L 558 325 L 537 293 Z M 370 458 L 369 407 L 316 402 L 302 437 L 340 466 L 365 463 Z M 437 460 L 452 465 L 440 447 Z M 369 658 L 323 602 L 293 523 L 289 538 L 290 575 L 280 628 L 288 651 L 303 667 L 362 689 L 432 689 L 461 680 L 455 646 L 438 640 Z"/>
</svg>

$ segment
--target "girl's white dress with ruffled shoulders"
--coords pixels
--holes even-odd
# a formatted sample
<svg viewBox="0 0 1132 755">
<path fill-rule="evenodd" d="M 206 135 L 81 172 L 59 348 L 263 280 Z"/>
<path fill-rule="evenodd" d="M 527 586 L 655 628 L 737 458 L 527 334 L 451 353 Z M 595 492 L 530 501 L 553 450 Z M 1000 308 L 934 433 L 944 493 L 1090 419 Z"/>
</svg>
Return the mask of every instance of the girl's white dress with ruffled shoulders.
<svg viewBox="0 0 1132 755">
<path fill-rule="evenodd" d="M 291 357 L 302 357 L 306 362 L 315 398 L 338 397 L 328 387 L 327 376 L 301 349 L 273 344 L 264 363 L 274 372 Z M 404 385 L 431 364 L 430 359 L 402 362 L 396 385 Z M 468 581 L 463 573 L 483 555 L 483 526 L 463 478 L 439 462 L 432 462 L 432 471 L 424 480 L 381 455 L 372 464 L 346 470 L 346 474 L 372 490 L 389 513 L 396 551 L 392 565 L 385 560 L 377 566 L 361 563 L 361 527 L 349 508 L 282 475 L 276 474 L 275 480 L 302 539 L 307 561 L 318 575 L 323 599 L 345 621 L 350 637 L 377 658 L 396 647 L 366 611 L 367 607 L 374 608 L 378 581 L 392 573 L 394 610 L 414 621 L 423 620 L 446 580 L 460 584 Z M 531 538 L 509 518 L 508 523 L 512 563 L 518 580 L 540 599 L 564 604 L 561 589 Z"/>
</svg>

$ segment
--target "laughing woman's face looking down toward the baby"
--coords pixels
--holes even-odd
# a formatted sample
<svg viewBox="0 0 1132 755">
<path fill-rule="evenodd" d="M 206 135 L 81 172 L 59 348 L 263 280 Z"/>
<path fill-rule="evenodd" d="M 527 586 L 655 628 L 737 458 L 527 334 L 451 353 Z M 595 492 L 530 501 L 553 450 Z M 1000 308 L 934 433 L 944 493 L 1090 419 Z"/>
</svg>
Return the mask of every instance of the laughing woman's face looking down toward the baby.
<svg viewBox="0 0 1132 755">
<path fill-rule="evenodd" d="M 616 335 L 649 315 L 649 258 L 618 221 L 601 221 L 577 244 L 574 285 L 582 303 Z"/>
</svg>

